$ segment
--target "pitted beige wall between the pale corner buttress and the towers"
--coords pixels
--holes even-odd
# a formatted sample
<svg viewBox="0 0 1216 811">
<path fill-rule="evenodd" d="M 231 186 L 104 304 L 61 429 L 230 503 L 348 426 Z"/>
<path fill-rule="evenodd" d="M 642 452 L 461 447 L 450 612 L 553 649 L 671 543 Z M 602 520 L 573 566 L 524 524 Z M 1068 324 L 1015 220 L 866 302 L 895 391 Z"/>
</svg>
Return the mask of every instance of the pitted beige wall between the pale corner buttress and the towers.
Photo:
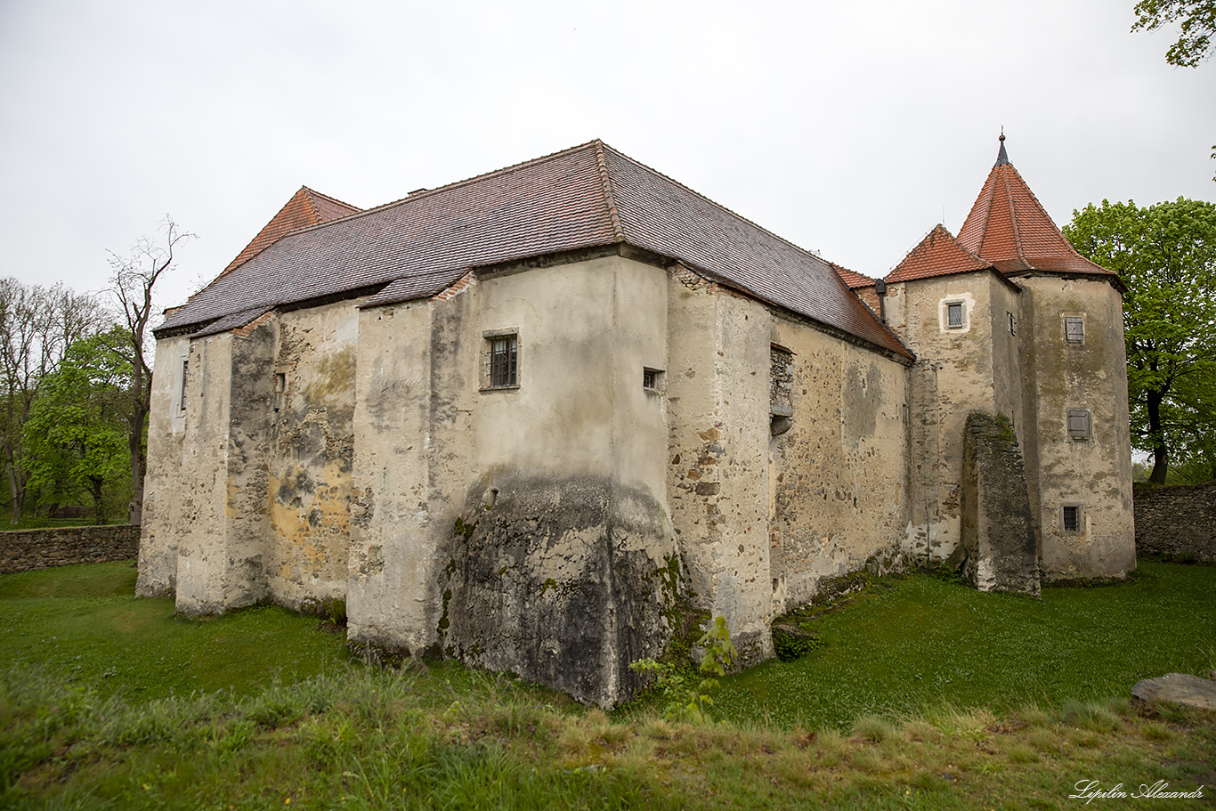
<svg viewBox="0 0 1216 811">
<path fill-rule="evenodd" d="M 769 440 L 770 578 L 781 614 L 835 578 L 902 564 L 907 368 L 796 320 L 771 323 L 773 343 L 793 351 L 790 428 Z"/>
</svg>

